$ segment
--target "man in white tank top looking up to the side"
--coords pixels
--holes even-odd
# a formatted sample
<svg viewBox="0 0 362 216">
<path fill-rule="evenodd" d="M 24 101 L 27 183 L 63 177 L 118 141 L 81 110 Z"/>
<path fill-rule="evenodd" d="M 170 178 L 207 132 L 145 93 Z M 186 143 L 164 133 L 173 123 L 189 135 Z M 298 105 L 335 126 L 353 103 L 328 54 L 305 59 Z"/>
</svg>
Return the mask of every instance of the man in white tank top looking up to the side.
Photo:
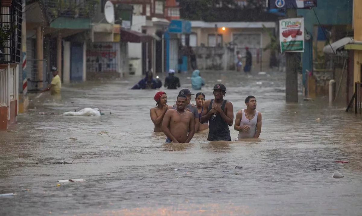
<svg viewBox="0 0 362 216">
<path fill-rule="evenodd" d="M 261 132 L 261 113 L 256 110 L 256 98 L 252 95 L 245 99 L 246 109 L 236 113 L 234 129 L 239 131 L 238 139 L 259 138 Z"/>
</svg>

